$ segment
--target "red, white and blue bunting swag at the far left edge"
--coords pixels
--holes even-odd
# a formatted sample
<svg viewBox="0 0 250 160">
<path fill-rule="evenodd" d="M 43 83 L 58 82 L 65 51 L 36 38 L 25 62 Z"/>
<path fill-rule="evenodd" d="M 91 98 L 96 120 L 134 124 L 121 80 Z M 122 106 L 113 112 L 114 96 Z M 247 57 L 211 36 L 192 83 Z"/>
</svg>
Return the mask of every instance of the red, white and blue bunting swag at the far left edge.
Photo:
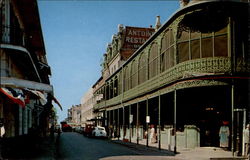
<svg viewBox="0 0 250 160">
<path fill-rule="evenodd" d="M 12 102 L 25 107 L 25 98 L 23 91 L 17 88 L 1 87 L 0 92 L 6 95 Z"/>
</svg>

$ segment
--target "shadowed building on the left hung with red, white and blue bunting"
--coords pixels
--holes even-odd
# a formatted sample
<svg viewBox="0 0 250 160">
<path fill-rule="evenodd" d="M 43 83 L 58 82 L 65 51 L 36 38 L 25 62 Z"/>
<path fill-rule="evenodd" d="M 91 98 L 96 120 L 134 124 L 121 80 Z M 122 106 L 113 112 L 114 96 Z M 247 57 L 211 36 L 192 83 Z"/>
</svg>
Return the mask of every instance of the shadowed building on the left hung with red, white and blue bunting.
<svg viewBox="0 0 250 160">
<path fill-rule="evenodd" d="M 4 137 L 35 131 L 46 136 L 53 122 L 53 87 L 37 1 L 1 0 L 0 8 L 0 119 Z"/>
</svg>

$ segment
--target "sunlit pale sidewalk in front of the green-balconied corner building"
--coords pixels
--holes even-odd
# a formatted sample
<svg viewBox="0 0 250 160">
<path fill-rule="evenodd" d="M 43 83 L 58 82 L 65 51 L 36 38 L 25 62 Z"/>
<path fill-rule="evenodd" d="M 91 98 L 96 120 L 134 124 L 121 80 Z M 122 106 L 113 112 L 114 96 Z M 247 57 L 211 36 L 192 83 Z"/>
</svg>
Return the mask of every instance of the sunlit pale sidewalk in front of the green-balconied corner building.
<svg viewBox="0 0 250 160">
<path fill-rule="evenodd" d="M 120 145 L 125 145 L 129 148 L 135 149 L 140 155 L 157 155 L 165 156 L 163 159 L 175 159 L 175 160 L 247 160 L 244 157 L 233 157 L 232 152 L 224 151 L 218 147 L 198 147 L 195 149 L 182 149 L 177 150 L 178 153 L 166 149 L 166 146 L 162 146 L 162 149 L 159 150 L 158 144 L 151 144 L 147 147 L 145 144 L 136 144 L 124 142 L 117 139 L 111 140 L 113 143 Z"/>
</svg>

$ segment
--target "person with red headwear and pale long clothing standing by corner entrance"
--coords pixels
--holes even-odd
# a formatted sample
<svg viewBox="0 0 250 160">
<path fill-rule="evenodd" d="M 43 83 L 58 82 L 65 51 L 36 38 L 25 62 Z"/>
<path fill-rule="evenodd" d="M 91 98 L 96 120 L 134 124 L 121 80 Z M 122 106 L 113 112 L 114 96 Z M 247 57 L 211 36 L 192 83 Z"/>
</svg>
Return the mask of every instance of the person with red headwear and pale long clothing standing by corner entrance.
<svg viewBox="0 0 250 160">
<path fill-rule="evenodd" d="M 219 136 L 220 136 L 220 147 L 228 149 L 229 147 L 229 127 L 228 121 L 223 121 L 222 126 L 220 127 Z"/>
</svg>

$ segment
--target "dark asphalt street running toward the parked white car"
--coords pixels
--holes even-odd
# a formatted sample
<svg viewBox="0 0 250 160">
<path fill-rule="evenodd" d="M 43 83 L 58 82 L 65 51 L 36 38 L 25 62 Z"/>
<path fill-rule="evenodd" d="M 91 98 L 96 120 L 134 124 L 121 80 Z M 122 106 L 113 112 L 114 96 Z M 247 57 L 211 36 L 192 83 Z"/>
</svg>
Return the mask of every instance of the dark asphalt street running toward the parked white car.
<svg viewBox="0 0 250 160">
<path fill-rule="evenodd" d="M 168 158 L 164 155 L 156 155 L 154 152 L 151 154 L 150 151 L 139 148 L 115 144 L 105 139 L 87 138 L 74 132 L 63 132 L 57 144 L 57 159 L 59 160 L 155 160 Z"/>
</svg>

